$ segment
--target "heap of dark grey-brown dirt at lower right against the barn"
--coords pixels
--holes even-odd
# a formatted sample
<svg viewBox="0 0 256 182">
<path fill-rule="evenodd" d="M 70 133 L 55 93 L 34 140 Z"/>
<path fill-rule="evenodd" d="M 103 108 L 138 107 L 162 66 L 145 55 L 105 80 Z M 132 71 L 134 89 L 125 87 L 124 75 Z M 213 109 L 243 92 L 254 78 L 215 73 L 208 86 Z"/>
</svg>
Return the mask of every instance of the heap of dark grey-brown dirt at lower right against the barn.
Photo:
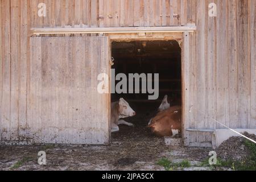
<svg viewBox="0 0 256 182">
<path fill-rule="evenodd" d="M 243 133 L 246 137 L 249 137 L 253 140 L 256 140 L 256 135 Z M 228 140 L 225 140 L 217 148 L 218 158 L 224 161 L 233 161 L 233 162 L 246 162 L 251 157 L 251 151 L 248 146 L 246 146 L 246 140 L 243 137 L 230 137 Z M 249 141 L 249 140 L 248 140 Z"/>
</svg>

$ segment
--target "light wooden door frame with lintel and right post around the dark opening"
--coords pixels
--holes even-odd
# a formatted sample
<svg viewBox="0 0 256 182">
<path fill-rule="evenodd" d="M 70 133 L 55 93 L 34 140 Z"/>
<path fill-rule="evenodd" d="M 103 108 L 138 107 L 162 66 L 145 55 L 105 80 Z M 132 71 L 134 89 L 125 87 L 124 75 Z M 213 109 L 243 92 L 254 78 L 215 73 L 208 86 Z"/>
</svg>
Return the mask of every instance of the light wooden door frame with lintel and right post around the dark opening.
<svg viewBox="0 0 256 182">
<path fill-rule="evenodd" d="M 176 40 L 181 48 L 181 97 L 182 97 L 182 138 L 185 146 L 189 144 L 188 136 L 188 122 L 189 122 L 189 61 L 190 61 L 190 46 L 189 37 L 191 32 L 168 32 L 168 33 L 152 33 L 152 34 L 137 34 L 137 33 L 127 33 L 127 34 L 105 34 L 110 38 L 110 55 L 112 53 L 112 42 L 131 42 L 136 40 Z M 111 56 L 110 56 L 111 57 Z M 111 88 L 111 82 L 110 82 Z M 111 94 L 110 94 L 111 95 Z M 111 96 L 110 96 L 111 102 Z M 111 112 L 111 107 L 110 107 Z M 111 121 L 110 121 L 111 122 Z M 111 135 L 111 132 L 110 132 Z M 111 139 L 111 136 L 110 136 Z"/>
</svg>

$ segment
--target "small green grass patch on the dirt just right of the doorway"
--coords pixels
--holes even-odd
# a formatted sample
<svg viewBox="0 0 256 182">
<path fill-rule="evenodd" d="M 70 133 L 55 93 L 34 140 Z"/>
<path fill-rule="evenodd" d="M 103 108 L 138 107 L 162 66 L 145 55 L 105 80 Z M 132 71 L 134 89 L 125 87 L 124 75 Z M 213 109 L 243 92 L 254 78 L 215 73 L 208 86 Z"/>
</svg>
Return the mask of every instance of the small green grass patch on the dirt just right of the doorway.
<svg viewBox="0 0 256 182">
<path fill-rule="evenodd" d="M 188 160 L 182 160 L 179 163 L 173 163 L 167 158 L 160 159 L 156 164 L 158 164 L 159 166 L 163 166 L 164 169 L 168 171 L 172 171 L 178 168 L 183 169 L 183 168 L 191 167 L 191 163 Z"/>
</svg>

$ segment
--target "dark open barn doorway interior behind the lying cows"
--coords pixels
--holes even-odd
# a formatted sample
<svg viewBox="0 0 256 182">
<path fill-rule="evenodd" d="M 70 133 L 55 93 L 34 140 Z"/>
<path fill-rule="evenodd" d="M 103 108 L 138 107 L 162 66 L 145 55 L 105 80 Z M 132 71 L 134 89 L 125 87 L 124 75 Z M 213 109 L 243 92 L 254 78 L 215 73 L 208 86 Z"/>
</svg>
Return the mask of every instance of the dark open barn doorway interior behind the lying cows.
<svg viewBox="0 0 256 182">
<path fill-rule="evenodd" d="M 134 93 L 112 93 L 112 102 L 124 98 L 136 111 L 134 117 L 124 119 L 133 123 L 134 127 L 119 125 L 119 131 L 112 133 L 112 139 L 154 137 L 147 128 L 147 124 L 157 113 L 164 96 L 168 96 L 171 106 L 181 105 L 181 48 L 179 43 L 176 40 L 112 42 L 112 56 L 114 58 L 112 69 L 115 75 L 124 73 L 129 78 L 129 73 L 159 74 L 159 97 L 156 100 L 148 100 L 149 93 L 135 93 L 135 90 Z M 118 82 L 115 81 L 115 84 Z M 154 82 L 152 85 L 154 88 Z M 142 82 L 140 88 L 141 86 Z M 128 80 L 127 88 L 129 89 Z"/>
</svg>

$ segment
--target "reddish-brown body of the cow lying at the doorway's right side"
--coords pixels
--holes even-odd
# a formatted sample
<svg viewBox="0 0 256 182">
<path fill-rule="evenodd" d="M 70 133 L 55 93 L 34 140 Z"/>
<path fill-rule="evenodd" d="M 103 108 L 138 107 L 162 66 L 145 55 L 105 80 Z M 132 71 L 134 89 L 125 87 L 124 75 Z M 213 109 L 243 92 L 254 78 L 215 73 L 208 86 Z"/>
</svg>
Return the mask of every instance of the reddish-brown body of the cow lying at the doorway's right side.
<svg viewBox="0 0 256 182">
<path fill-rule="evenodd" d="M 158 137 L 174 136 L 181 132 L 181 106 L 160 111 L 148 127 Z"/>
</svg>

